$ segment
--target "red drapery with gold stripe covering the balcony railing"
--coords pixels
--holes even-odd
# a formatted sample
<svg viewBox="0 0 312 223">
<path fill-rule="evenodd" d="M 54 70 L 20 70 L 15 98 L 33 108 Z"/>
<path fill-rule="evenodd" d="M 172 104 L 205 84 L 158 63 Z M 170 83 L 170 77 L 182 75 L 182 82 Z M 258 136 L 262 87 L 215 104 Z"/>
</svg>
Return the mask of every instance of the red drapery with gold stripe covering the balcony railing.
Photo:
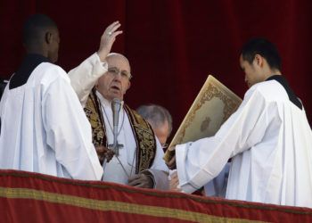
<svg viewBox="0 0 312 223">
<path fill-rule="evenodd" d="M 1 222 L 311 222 L 308 208 L 0 170 Z"/>
</svg>

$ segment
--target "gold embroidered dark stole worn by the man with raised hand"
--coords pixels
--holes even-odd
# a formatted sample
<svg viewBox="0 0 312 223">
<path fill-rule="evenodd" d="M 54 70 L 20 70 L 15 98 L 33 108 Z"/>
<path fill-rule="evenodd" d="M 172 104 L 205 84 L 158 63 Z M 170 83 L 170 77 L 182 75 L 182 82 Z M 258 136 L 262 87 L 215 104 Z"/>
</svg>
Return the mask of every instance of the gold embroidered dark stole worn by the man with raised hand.
<svg viewBox="0 0 312 223">
<path fill-rule="evenodd" d="M 135 136 L 135 173 L 152 166 L 156 154 L 156 139 L 151 125 L 144 120 L 138 113 L 124 104 L 124 109 L 130 121 L 132 131 Z M 92 138 L 94 146 L 107 145 L 106 129 L 103 121 L 101 103 L 95 95 L 95 89 L 90 93 L 85 107 L 86 117 L 92 127 Z"/>
</svg>

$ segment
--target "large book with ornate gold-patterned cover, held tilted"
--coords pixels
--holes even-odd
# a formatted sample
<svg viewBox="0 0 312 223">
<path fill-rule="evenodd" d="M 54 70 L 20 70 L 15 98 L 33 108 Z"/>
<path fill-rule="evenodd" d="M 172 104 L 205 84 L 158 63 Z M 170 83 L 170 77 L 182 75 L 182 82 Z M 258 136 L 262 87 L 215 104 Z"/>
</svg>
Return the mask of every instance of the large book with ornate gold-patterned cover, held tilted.
<svg viewBox="0 0 312 223">
<path fill-rule="evenodd" d="M 163 159 L 170 161 L 174 151 L 170 147 L 214 136 L 228 117 L 237 110 L 242 99 L 209 75 L 195 98 L 185 119 L 177 129 Z"/>
</svg>

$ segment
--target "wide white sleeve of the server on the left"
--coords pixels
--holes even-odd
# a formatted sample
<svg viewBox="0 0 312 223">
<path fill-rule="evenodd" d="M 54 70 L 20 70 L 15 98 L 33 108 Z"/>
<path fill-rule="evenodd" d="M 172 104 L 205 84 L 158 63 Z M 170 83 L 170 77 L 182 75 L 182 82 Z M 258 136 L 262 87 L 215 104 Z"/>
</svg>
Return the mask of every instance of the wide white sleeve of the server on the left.
<svg viewBox="0 0 312 223">
<path fill-rule="evenodd" d="M 59 70 L 52 70 L 53 75 Z M 78 97 L 64 75 L 55 78 L 43 95 L 46 143 L 72 178 L 100 180 L 103 169 L 92 144 L 91 127 Z"/>
</svg>

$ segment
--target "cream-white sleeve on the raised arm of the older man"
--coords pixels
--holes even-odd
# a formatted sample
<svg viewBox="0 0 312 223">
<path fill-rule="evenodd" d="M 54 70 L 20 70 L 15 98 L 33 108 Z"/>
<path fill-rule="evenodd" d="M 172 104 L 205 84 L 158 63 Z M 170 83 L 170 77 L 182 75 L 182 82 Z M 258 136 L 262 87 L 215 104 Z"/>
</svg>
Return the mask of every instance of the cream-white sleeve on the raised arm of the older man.
<svg viewBox="0 0 312 223">
<path fill-rule="evenodd" d="M 95 82 L 107 71 L 107 62 L 101 62 L 99 56 L 94 53 L 84 62 L 70 70 L 70 84 L 78 95 L 79 101 L 83 107 L 90 94 Z"/>
</svg>

